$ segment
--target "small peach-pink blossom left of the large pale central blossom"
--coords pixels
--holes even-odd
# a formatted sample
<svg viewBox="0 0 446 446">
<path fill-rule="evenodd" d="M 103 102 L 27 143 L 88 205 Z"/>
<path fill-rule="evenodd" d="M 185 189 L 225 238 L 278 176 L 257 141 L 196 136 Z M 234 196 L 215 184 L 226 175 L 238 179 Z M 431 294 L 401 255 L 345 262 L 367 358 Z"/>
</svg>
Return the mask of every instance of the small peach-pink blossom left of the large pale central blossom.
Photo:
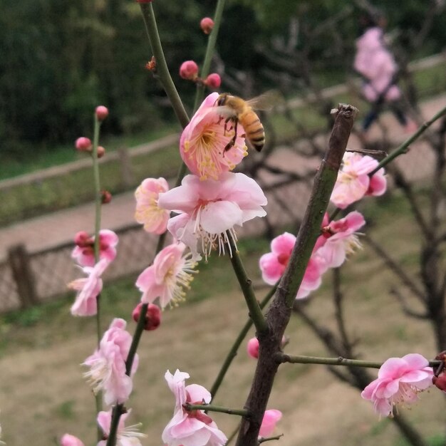
<svg viewBox="0 0 446 446">
<path fill-rule="evenodd" d="M 166 231 L 169 212 L 158 206 L 158 197 L 168 190 L 167 181 L 160 177 L 157 180 L 146 178 L 135 191 L 135 220 L 144 224 L 147 232 L 162 234 Z"/>
</svg>

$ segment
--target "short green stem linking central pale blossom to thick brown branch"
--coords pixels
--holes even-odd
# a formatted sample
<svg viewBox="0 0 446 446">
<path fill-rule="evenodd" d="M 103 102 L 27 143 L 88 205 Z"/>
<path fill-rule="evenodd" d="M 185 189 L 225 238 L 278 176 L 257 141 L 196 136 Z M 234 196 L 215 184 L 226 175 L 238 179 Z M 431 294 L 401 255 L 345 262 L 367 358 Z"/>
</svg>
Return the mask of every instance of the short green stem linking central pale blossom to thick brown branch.
<svg viewBox="0 0 446 446">
<path fill-rule="evenodd" d="M 254 322 L 254 326 L 256 326 L 256 331 L 258 333 L 266 333 L 266 331 L 268 331 L 268 325 L 266 324 L 265 317 L 261 312 L 261 308 L 259 306 L 259 302 L 256 299 L 256 295 L 254 294 L 252 281 L 251 279 L 249 279 L 247 271 L 245 271 L 244 269 L 242 259 L 240 259 L 239 252 L 237 251 L 237 246 L 232 239 L 229 231 L 227 232 L 227 239 L 232 252 L 232 268 L 234 269 L 234 273 L 237 276 L 237 280 L 239 281 L 244 300 L 247 302 L 249 317 Z"/>
</svg>

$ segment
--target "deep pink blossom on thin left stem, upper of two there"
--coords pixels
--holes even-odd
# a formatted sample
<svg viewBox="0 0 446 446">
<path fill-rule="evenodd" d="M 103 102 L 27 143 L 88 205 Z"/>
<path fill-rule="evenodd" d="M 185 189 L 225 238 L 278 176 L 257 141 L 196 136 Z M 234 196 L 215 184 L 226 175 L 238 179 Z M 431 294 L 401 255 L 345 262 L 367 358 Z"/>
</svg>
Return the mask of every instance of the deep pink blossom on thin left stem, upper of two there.
<svg viewBox="0 0 446 446">
<path fill-rule="evenodd" d="M 116 257 L 116 245 L 118 235 L 110 229 L 99 231 L 99 259 L 106 259 L 108 263 Z M 78 232 L 74 237 L 76 247 L 71 252 L 71 257 L 76 259 L 81 266 L 93 266 L 95 264 L 95 237 L 90 237 L 85 231 Z"/>
</svg>

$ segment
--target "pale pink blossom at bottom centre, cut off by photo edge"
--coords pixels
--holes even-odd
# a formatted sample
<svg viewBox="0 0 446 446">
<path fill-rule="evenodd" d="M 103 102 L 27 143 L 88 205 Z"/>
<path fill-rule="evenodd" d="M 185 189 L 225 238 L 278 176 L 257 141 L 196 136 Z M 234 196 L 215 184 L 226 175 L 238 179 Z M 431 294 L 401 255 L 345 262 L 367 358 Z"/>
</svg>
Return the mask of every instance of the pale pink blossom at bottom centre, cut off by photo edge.
<svg viewBox="0 0 446 446">
<path fill-rule="evenodd" d="M 162 432 L 162 441 L 167 446 L 221 446 L 227 437 L 218 429 L 215 422 L 202 410 L 187 411 L 183 405 L 209 403 L 211 394 L 202 385 L 185 385 L 188 373 L 177 370 L 172 375 L 169 370 L 165 379 L 175 395 L 175 410 L 172 420 Z"/>
</svg>

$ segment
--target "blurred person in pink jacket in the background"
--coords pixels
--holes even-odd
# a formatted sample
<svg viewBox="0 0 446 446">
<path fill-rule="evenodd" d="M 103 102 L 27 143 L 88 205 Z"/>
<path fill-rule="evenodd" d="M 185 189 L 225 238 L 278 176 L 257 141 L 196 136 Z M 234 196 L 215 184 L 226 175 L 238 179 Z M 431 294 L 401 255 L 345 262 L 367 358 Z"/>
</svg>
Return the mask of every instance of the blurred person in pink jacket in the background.
<svg viewBox="0 0 446 446">
<path fill-rule="evenodd" d="M 406 130 L 413 130 L 415 125 L 406 118 L 401 107 L 401 91 L 396 84 L 398 66 L 385 46 L 383 39 L 383 16 L 375 19 L 370 16 L 362 18 L 363 34 L 356 41 L 356 56 L 353 63 L 355 70 L 364 79 L 363 95 L 372 108 L 365 115 L 363 132 L 378 118 L 383 105 L 388 105 L 398 122 Z"/>
</svg>

